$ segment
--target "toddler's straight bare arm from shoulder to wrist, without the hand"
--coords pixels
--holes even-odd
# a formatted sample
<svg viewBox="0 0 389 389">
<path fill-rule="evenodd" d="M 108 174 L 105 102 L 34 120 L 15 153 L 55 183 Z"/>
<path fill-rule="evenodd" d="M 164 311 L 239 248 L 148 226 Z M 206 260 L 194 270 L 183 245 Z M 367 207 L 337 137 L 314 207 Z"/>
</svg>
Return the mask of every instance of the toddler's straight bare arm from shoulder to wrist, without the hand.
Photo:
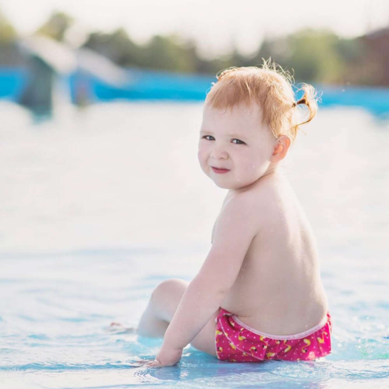
<svg viewBox="0 0 389 389">
<path fill-rule="evenodd" d="M 212 248 L 196 277 L 187 286 L 165 332 L 163 349 L 183 349 L 220 307 L 234 284 L 245 254 L 258 230 L 258 214 L 249 195 L 236 195 L 223 206 Z M 258 201 L 258 199 L 257 199 Z"/>
</svg>

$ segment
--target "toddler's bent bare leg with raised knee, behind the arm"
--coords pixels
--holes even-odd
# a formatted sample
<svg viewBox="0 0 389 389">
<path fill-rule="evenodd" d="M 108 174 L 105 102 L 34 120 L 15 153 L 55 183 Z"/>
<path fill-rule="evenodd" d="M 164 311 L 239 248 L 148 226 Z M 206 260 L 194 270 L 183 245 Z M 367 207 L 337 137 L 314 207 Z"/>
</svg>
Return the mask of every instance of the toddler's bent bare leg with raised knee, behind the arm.
<svg viewBox="0 0 389 389">
<path fill-rule="evenodd" d="M 152 292 L 140 318 L 137 333 L 163 338 L 189 282 L 177 278 L 161 282 Z"/>
</svg>

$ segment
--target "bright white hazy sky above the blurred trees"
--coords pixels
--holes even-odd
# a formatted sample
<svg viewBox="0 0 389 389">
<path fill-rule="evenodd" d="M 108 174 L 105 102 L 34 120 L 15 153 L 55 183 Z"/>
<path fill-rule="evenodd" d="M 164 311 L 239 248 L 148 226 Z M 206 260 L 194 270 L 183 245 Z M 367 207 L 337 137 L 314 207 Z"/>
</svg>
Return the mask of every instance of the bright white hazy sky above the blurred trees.
<svg viewBox="0 0 389 389">
<path fill-rule="evenodd" d="M 248 54 L 265 34 L 306 26 L 328 27 L 343 37 L 389 26 L 388 0 L 0 0 L 0 11 L 22 35 L 55 10 L 70 14 L 88 31 L 123 26 L 137 42 L 179 32 L 195 38 L 200 53 L 209 57 L 228 52 L 233 43 Z"/>
</svg>

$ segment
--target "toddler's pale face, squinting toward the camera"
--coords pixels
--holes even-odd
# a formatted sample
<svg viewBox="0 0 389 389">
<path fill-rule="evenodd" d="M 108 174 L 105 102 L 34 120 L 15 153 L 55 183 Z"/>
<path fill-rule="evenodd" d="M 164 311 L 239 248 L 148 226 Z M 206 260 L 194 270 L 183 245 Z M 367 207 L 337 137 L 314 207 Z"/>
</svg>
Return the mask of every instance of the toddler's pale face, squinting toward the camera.
<svg viewBox="0 0 389 389">
<path fill-rule="evenodd" d="M 259 105 L 241 104 L 232 110 L 204 107 L 198 159 L 203 172 L 217 186 L 242 188 L 275 167 L 270 159 L 277 140 L 261 120 Z M 228 171 L 217 172 L 214 168 Z"/>
</svg>

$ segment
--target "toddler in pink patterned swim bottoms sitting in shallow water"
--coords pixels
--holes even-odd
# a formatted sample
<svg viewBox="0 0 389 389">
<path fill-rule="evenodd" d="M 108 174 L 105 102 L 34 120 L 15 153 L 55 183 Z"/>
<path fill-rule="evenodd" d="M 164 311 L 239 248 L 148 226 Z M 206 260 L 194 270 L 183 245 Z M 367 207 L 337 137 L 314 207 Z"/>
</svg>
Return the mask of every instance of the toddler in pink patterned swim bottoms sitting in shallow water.
<svg viewBox="0 0 389 389">
<path fill-rule="evenodd" d="M 331 316 L 307 217 L 279 172 L 317 92 L 270 59 L 223 70 L 203 107 L 198 159 L 228 189 L 196 277 L 161 282 L 137 333 L 163 337 L 147 366 L 179 362 L 190 343 L 220 360 L 313 360 L 331 352 Z M 301 107 L 308 116 L 299 123 Z M 303 119 L 301 119 L 303 120 Z"/>
</svg>

